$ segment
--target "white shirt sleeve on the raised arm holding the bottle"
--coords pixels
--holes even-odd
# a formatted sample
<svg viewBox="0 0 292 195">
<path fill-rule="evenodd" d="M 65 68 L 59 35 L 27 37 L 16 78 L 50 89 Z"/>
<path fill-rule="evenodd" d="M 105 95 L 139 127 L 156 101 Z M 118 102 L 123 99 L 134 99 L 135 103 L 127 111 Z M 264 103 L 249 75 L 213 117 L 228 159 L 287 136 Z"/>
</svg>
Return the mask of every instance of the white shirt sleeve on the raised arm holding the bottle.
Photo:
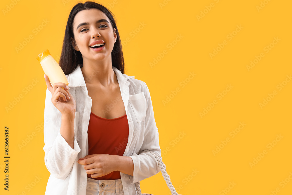
<svg viewBox="0 0 292 195">
<path fill-rule="evenodd" d="M 52 103 L 52 93 L 46 90 L 44 109 L 44 151 L 45 165 L 55 178 L 65 180 L 77 161 L 80 147 L 74 135 L 74 149 L 60 134 L 60 111 Z M 74 127 L 75 128 L 75 127 Z"/>
</svg>

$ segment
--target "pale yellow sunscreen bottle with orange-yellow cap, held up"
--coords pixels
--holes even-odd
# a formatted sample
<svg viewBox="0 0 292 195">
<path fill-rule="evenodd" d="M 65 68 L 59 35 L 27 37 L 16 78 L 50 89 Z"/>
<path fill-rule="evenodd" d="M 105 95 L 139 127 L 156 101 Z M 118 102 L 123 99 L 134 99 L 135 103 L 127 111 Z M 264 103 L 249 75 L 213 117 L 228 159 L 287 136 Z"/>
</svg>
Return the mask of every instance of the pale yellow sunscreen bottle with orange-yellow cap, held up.
<svg viewBox="0 0 292 195">
<path fill-rule="evenodd" d="M 56 82 L 62 82 L 68 85 L 68 80 L 60 65 L 51 56 L 49 50 L 41 52 L 37 58 L 49 81 L 54 85 Z M 63 88 L 63 87 L 62 87 Z M 64 88 L 63 88 L 64 89 Z"/>
</svg>

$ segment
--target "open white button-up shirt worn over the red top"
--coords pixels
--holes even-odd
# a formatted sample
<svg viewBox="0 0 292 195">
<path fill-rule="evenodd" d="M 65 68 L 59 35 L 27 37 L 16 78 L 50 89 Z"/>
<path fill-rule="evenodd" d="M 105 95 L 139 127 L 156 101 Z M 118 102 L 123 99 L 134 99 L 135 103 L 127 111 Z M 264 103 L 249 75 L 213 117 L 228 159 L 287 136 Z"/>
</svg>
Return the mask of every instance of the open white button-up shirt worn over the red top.
<svg viewBox="0 0 292 195">
<path fill-rule="evenodd" d="M 122 74 L 114 66 L 112 68 L 117 75 L 129 125 L 128 144 L 123 156 L 130 156 L 134 163 L 134 176 L 121 172 L 121 181 L 125 195 L 136 195 L 135 182 L 151 177 L 160 171 L 158 162 L 151 153 L 140 154 L 141 151 L 148 149 L 161 156 L 158 128 L 154 120 L 152 101 L 146 83 L 134 79 L 134 76 Z M 88 155 L 87 130 L 92 99 L 88 96 L 80 65 L 66 77 L 69 82 L 69 92 L 76 101 L 74 149 L 60 134 L 62 114 L 53 105 L 52 94 L 47 88 L 43 149 L 45 165 L 51 175 L 45 195 L 86 194 L 87 173 L 84 165 L 79 165 L 76 161 L 78 158 Z"/>
</svg>

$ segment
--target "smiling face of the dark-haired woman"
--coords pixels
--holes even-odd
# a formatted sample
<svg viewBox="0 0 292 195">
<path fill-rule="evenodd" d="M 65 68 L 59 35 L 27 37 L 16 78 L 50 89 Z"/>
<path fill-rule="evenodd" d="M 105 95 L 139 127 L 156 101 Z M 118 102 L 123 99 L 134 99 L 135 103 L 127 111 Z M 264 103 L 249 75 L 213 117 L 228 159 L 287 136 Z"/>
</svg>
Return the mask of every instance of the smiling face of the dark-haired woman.
<svg viewBox="0 0 292 195">
<path fill-rule="evenodd" d="M 104 21 L 98 20 L 105 19 Z M 81 24 L 88 23 L 88 24 Z M 82 54 L 83 62 L 96 60 L 110 60 L 114 43 L 117 40 L 115 28 L 112 28 L 109 18 L 98 9 L 79 11 L 74 18 L 73 33 L 71 37 L 75 50 Z M 94 41 L 103 40 L 105 42 L 102 49 L 92 49 L 90 45 Z M 99 50 L 99 51 L 96 51 Z"/>
</svg>

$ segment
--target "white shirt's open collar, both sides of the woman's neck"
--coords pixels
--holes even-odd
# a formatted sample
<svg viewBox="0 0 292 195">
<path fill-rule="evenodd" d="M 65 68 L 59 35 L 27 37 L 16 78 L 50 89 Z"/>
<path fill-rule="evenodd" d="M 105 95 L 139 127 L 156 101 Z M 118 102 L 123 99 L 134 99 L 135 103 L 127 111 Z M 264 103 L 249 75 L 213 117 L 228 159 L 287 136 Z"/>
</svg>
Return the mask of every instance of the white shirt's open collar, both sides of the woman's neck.
<svg viewBox="0 0 292 195">
<path fill-rule="evenodd" d="M 134 76 L 128 76 L 126 74 L 122 74 L 121 71 L 114 66 L 112 66 L 112 69 L 116 73 L 117 79 L 123 82 L 124 84 L 126 84 L 127 86 L 129 86 L 130 82 L 128 81 L 128 79 L 133 78 Z M 84 80 L 79 64 L 77 65 L 77 68 L 73 70 L 72 73 L 70 73 L 69 75 L 66 75 L 66 78 L 69 83 L 68 87 L 79 87 L 79 86 L 86 87 L 85 80 Z"/>
</svg>

